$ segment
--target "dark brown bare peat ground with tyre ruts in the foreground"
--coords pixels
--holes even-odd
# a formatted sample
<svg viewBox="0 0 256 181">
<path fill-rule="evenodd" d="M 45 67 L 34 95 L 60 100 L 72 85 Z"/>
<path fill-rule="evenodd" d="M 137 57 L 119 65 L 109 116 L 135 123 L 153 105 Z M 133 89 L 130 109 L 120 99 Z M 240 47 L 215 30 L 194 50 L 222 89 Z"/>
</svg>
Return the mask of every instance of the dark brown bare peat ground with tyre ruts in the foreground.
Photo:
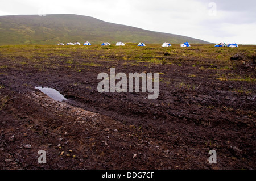
<svg viewBox="0 0 256 181">
<path fill-rule="evenodd" d="M 256 169 L 254 81 L 217 79 L 216 69 L 192 60 L 131 65 L 74 52 L 76 62 L 101 64 L 75 71 L 64 66 L 64 56 L 32 55 L 50 66 L 0 54 L 0 169 Z M 251 76 L 250 66 L 220 71 Z M 97 75 L 110 68 L 160 73 L 158 99 L 98 92 Z M 57 102 L 35 86 L 68 100 Z M 38 163 L 39 150 L 47 163 Z M 216 150 L 216 164 L 209 163 L 209 150 Z"/>
</svg>

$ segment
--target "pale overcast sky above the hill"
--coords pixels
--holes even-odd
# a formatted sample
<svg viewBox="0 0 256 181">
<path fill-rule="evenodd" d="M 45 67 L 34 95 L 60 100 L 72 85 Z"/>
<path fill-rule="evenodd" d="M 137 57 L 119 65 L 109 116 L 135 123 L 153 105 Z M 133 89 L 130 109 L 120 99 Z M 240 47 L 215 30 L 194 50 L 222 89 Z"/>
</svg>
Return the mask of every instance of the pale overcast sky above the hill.
<svg viewBox="0 0 256 181">
<path fill-rule="evenodd" d="M 256 44 L 255 0 L 1 0 L 0 15 L 20 14 L 78 14 L 212 43 Z"/>
</svg>

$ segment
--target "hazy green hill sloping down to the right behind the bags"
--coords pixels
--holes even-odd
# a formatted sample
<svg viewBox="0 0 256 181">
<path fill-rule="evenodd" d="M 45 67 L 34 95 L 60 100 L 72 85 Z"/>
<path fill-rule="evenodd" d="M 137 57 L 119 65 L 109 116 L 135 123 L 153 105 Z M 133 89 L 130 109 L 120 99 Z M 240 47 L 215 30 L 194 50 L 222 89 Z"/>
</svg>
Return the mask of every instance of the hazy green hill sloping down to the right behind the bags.
<svg viewBox="0 0 256 181">
<path fill-rule="evenodd" d="M 57 44 L 90 41 L 101 44 L 106 41 L 138 43 L 206 44 L 191 37 L 143 30 L 120 24 L 108 23 L 81 15 L 14 15 L 0 16 L 0 45 Z"/>
</svg>

